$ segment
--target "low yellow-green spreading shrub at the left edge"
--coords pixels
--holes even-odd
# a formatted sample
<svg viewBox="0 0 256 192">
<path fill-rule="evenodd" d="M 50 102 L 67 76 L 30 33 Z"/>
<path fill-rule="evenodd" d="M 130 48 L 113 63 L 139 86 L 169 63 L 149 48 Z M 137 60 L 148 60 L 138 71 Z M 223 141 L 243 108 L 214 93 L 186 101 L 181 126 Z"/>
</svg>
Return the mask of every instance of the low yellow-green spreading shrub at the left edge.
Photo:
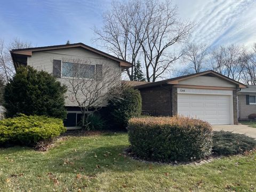
<svg viewBox="0 0 256 192">
<path fill-rule="evenodd" d="M 6 143 L 34 145 L 39 141 L 58 137 L 65 131 L 62 119 L 36 115 L 6 118 L 0 121 L 0 145 Z"/>
</svg>

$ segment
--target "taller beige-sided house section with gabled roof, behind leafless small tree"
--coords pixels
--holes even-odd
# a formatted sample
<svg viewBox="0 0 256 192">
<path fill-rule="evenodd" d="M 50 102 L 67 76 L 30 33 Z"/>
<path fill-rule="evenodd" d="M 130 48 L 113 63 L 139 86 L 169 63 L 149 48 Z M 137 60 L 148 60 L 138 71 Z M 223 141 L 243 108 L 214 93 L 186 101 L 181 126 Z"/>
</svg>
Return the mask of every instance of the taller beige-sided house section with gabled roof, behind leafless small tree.
<svg viewBox="0 0 256 192">
<path fill-rule="evenodd" d="M 80 61 L 79 67 L 86 65 L 86 67 L 90 68 L 88 70 L 90 74 L 86 74 L 88 76 L 93 75 L 97 70 L 102 70 L 102 66 L 104 67 L 104 65 L 111 67 L 112 74 L 109 74 L 110 78 L 114 75 L 120 75 L 117 79 L 117 84 L 121 84 L 121 71 L 132 66 L 130 62 L 118 59 L 113 55 L 99 51 L 83 43 L 17 49 L 12 50 L 11 55 L 15 68 L 20 65 L 32 66 L 35 69 L 44 70 L 53 74 L 62 84 L 68 85 L 68 91 L 65 97 L 68 116 L 65 126 L 77 126 L 77 122 L 81 119 L 81 110 L 74 99 L 74 95 L 70 91 L 72 87 L 67 83 L 68 77 L 66 71 L 68 71 L 70 65 L 76 65 L 76 61 Z M 84 63 L 81 63 L 81 61 L 84 61 Z M 103 102 L 102 107 L 106 106 L 106 103 Z"/>
</svg>

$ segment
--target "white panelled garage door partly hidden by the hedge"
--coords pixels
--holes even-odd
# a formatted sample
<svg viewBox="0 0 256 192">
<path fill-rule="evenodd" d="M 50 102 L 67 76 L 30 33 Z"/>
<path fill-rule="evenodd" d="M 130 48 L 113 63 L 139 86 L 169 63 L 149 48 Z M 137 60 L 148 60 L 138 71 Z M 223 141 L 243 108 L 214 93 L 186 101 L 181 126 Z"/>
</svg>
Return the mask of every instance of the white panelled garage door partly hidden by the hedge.
<svg viewBox="0 0 256 192">
<path fill-rule="evenodd" d="M 195 117 L 212 125 L 231 123 L 230 95 L 178 94 L 178 114 Z"/>
</svg>

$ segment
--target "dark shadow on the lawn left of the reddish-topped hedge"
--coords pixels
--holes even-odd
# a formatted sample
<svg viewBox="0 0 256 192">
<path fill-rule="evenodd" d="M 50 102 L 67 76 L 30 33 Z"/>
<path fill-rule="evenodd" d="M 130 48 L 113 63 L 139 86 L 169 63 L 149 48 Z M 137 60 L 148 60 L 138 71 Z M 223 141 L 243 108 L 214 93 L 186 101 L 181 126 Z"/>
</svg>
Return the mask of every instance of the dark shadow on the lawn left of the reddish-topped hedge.
<svg viewBox="0 0 256 192">
<path fill-rule="evenodd" d="M 96 174 L 107 170 L 123 172 L 148 167 L 141 162 L 127 157 L 123 151 L 127 145 L 115 145 L 93 148 L 92 150 L 70 151 L 67 154 L 58 151 L 57 155 L 49 161 L 42 162 L 42 166 L 49 172 L 77 172 L 83 174 Z M 135 162 L 135 163 L 134 163 Z"/>
</svg>

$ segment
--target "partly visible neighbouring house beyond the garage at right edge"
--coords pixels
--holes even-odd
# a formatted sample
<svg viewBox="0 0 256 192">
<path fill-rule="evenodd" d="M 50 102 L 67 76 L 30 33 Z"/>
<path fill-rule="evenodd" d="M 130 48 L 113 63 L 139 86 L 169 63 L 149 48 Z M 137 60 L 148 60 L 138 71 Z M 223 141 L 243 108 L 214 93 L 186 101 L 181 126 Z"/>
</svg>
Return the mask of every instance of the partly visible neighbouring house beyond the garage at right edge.
<svg viewBox="0 0 256 192">
<path fill-rule="evenodd" d="M 247 119 L 248 115 L 256 114 L 256 85 L 247 85 L 247 88 L 237 92 L 238 119 Z"/>
</svg>

